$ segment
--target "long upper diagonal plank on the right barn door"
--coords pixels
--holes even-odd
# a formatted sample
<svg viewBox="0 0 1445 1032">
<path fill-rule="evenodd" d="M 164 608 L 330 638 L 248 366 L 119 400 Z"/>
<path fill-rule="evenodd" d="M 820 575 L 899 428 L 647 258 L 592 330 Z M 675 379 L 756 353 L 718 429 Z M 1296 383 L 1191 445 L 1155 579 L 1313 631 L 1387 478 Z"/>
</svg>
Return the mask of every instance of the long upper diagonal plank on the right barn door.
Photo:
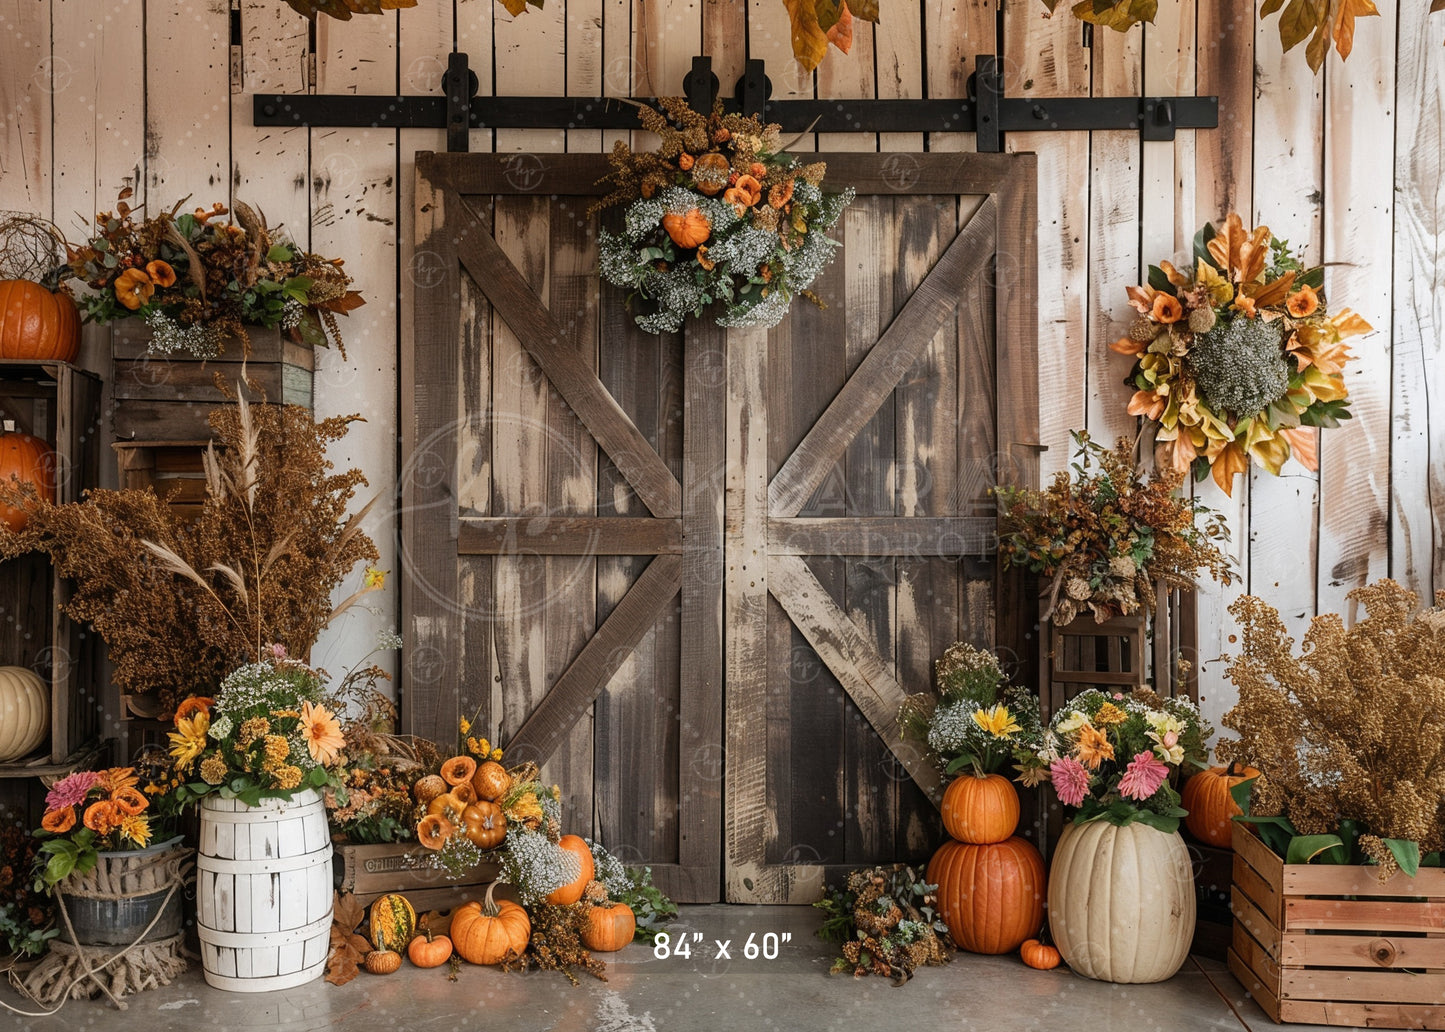
<svg viewBox="0 0 1445 1032">
<path fill-rule="evenodd" d="M 802 510 L 848 442 L 893 393 L 944 322 L 954 317 L 968 270 L 994 251 L 996 212 L 991 197 L 978 207 L 868 357 L 783 463 L 767 490 L 773 516 L 796 516 Z"/>
</svg>

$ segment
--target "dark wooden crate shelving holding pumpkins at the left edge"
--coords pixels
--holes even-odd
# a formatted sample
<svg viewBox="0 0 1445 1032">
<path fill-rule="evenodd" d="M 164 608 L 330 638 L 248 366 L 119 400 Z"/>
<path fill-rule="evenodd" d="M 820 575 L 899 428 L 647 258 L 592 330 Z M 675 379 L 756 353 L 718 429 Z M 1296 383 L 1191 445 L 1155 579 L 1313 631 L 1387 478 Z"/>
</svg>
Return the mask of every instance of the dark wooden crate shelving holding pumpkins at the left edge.
<svg viewBox="0 0 1445 1032">
<path fill-rule="evenodd" d="M 55 450 L 56 499 L 77 502 L 100 476 L 101 383 L 59 361 L 0 360 L 0 418 Z M 0 665 L 27 666 L 51 685 L 51 740 L 0 765 L 0 778 L 64 769 L 100 736 L 100 639 L 59 611 L 69 588 L 42 554 L 0 562 Z"/>
</svg>

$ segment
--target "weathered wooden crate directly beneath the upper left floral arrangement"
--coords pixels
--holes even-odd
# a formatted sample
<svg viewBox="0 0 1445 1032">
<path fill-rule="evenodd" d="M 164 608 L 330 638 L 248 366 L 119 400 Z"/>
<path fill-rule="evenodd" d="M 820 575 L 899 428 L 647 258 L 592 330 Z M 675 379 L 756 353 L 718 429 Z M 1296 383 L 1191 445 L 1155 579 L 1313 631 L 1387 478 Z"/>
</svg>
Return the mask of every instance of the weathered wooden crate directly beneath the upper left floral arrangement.
<svg viewBox="0 0 1445 1032">
<path fill-rule="evenodd" d="M 244 376 L 273 405 L 311 408 L 315 353 L 282 337 L 280 330 L 249 327 L 251 353 L 230 340 L 218 358 L 197 361 L 147 353 L 150 330 L 139 319 L 111 324 L 110 353 L 114 410 L 111 423 L 120 441 L 207 441 L 211 409 L 227 397 L 215 377 L 227 384 Z"/>
</svg>

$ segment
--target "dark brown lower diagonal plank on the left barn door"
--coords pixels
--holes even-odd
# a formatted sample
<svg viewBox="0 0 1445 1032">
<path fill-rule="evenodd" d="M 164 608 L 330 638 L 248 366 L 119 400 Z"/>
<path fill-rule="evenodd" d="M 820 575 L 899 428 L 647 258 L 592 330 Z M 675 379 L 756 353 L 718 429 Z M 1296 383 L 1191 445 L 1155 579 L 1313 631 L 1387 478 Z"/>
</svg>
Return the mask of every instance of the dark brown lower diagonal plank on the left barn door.
<svg viewBox="0 0 1445 1032">
<path fill-rule="evenodd" d="M 659 555 L 647 565 L 546 698 L 517 728 L 506 746 L 509 759 L 540 765 L 552 754 L 657 622 L 662 607 L 678 594 L 681 572 L 682 558 L 678 555 Z"/>
</svg>

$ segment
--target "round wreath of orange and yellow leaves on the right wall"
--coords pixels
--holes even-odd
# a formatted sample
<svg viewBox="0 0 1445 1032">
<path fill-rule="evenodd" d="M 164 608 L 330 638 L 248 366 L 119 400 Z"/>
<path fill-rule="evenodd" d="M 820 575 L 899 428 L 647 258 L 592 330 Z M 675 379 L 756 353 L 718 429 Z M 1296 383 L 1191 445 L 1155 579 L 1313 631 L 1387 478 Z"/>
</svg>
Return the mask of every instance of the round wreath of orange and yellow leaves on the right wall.
<svg viewBox="0 0 1445 1032">
<path fill-rule="evenodd" d="M 1327 311 L 1322 267 L 1230 214 L 1195 236 L 1194 269 L 1160 262 L 1127 293 L 1139 318 L 1110 348 L 1134 358 L 1129 413 L 1159 425 L 1162 463 L 1225 494 L 1251 460 L 1318 468 L 1316 429 L 1350 418 L 1345 341 L 1373 328 Z"/>
</svg>

